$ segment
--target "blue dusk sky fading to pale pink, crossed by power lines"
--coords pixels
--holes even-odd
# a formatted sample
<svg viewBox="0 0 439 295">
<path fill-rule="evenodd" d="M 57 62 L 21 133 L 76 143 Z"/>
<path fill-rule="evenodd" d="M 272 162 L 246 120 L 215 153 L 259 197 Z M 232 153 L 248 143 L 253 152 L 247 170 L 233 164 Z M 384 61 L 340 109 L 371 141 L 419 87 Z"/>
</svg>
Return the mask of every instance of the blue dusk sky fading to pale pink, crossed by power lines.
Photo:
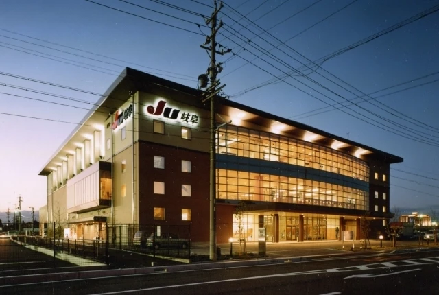
<svg viewBox="0 0 439 295">
<path fill-rule="evenodd" d="M 211 12 L 1 0 L 0 211 L 45 205 L 39 172 L 125 67 L 197 88 Z M 226 0 L 218 18 L 224 96 L 401 156 L 390 211 L 439 211 L 439 1 Z"/>
</svg>

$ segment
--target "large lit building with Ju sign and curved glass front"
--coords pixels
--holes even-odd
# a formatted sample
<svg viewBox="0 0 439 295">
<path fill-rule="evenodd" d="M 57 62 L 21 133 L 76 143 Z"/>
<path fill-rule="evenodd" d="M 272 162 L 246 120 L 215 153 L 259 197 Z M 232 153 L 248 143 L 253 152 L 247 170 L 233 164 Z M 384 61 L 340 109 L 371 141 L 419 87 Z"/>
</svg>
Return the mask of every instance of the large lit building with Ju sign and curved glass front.
<svg viewBox="0 0 439 295">
<path fill-rule="evenodd" d="M 41 169 L 41 224 L 190 225 L 209 241 L 209 102 L 201 92 L 126 68 Z M 390 164 L 403 158 L 217 98 L 216 234 L 257 241 L 384 233 Z M 237 214 L 236 214 L 237 213 Z M 43 232 L 43 229 L 41 229 Z"/>
</svg>

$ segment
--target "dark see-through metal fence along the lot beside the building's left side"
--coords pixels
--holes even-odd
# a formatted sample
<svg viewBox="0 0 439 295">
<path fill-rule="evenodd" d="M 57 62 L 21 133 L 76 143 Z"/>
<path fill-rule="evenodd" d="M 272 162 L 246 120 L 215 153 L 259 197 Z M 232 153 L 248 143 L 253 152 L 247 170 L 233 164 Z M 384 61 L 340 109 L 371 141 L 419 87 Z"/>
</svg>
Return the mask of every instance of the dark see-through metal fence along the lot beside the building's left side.
<svg viewBox="0 0 439 295">
<path fill-rule="evenodd" d="M 191 232 L 190 226 L 53 223 L 47 225 L 45 236 L 16 235 L 5 239 L 3 244 L 0 256 L 16 257 L 5 261 L 6 264 L 14 263 L 20 255 L 21 260 L 27 257 L 27 263 L 38 260 L 45 267 L 135 268 L 145 266 L 152 259 L 189 263 Z M 2 249 L 10 253 L 3 253 Z"/>
</svg>

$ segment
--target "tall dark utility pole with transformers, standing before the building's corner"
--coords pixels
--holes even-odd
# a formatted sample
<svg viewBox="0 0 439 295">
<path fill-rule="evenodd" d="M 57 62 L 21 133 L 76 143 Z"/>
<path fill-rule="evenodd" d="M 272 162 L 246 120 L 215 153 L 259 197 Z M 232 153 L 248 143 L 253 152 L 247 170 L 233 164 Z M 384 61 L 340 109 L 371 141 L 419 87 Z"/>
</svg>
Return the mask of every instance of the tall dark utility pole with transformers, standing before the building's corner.
<svg viewBox="0 0 439 295">
<path fill-rule="evenodd" d="M 226 85 L 219 86 L 219 80 L 217 80 L 217 74 L 222 71 L 221 63 L 216 63 L 216 54 L 225 54 L 230 52 L 230 49 L 217 51 L 216 34 L 219 28 L 222 27 L 222 21 L 219 22 L 217 26 L 217 14 L 219 10 L 223 7 L 223 3 L 219 3 L 219 8 L 217 7 L 217 1 L 215 0 L 215 10 L 213 11 L 211 17 L 206 19 L 206 25 L 211 25 L 211 36 L 206 36 L 206 42 L 200 47 L 210 51 L 211 64 L 209 66 L 209 79 L 210 85 L 208 86 L 208 75 L 202 74 L 198 77 L 200 80 L 200 88 L 206 88 L 206 92 L 203 93 L 202 102 L 211 100 L 211 127 L 210 127 L 210 173 L 209 173 L 209 258 L 213 261 L 217 260 L 216 252 L 216 220 L 215 220 L 215 199 L 216 199 L 216 167 L 215 167 L 215 96 L 221 91 Z M 206 47 L 206 45 L 209 45 Z"/>
</svg>

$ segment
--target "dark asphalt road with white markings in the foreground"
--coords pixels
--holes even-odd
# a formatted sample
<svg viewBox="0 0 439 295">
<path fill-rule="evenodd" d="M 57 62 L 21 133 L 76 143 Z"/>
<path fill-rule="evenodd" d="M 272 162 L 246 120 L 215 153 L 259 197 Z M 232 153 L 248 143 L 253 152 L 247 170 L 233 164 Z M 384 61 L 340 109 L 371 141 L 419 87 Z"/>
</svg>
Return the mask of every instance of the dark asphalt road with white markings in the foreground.
<svg viewBox="0 0 439 295">
<path fill-rule="evenodd" d="M 156 270 L 0 286 L 0 294 L 439 294 L 436 251 L 358 252 L 300 262 L 281 259 L 265 265 Z"/>
</svg>

